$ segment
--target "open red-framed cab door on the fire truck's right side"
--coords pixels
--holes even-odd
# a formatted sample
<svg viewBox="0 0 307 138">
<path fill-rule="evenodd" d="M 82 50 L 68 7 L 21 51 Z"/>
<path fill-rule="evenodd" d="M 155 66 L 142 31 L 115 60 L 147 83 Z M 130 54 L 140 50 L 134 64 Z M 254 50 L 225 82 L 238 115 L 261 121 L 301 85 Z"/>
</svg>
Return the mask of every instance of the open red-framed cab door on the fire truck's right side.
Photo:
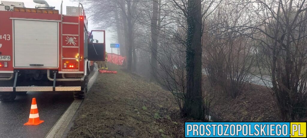
<svg viewBox="0 0 307 138">
<path fill-rule="evenodd" d="M 94 34 L 95 33 L 95 34 Z M 92 30 L 88 37 L 87 59 L 90 61 L 105 61 L 106 43 L 105 30 Z"/>
</svg>

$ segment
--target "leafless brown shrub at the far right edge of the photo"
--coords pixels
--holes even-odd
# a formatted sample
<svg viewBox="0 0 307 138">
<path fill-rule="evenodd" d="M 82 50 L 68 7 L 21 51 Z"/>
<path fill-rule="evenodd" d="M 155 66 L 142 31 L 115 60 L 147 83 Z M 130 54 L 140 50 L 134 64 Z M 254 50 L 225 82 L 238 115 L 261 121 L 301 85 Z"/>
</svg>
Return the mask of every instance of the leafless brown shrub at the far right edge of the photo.
<svg viewBox="0 0 307 138">
<path fill-rule="evenodd" d="M 270 3 L 270 4 L 269 4 Z M 257 4 L 254 5 L 254 4 Z M 253 37 L 262 44 L 272 86 L 282 117 L 300 120 L 307 115 L 307 3 L 293 0 L 246 0 L 252 25 L 242 25 L 264 37 Z M 248 10 L 248 9 L 246 9 Z"/>
</svg>

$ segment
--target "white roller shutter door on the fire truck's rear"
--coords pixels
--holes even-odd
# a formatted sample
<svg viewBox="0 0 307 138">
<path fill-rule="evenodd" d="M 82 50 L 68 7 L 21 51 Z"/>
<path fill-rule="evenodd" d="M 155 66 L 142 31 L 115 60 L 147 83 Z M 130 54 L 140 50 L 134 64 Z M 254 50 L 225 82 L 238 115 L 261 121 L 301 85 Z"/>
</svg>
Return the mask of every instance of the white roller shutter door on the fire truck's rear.
<svg viewBox="0 0 307 138">
<path fill-rule="evenodd" d="M 58 67 L 58 22 L 14 20 L 15 67 Z"/>
</svg>

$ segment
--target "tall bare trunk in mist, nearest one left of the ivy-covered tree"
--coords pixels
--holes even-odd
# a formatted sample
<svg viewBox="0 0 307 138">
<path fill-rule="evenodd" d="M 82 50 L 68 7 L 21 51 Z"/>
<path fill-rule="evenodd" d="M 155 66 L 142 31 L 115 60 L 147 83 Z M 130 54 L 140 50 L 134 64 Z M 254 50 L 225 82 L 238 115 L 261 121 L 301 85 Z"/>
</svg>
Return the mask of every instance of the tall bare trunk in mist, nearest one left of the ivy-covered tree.
<svg viewBox="0 0 307 138">
<path fill-rule="evenodd" d="M 153 0 L 152 17 L 151 17 L 151 71 L 150 81 L 155 79 L 155 70 L 157 69 L 157 49 L 158 49 L 158 0 Z"/>
</svg>

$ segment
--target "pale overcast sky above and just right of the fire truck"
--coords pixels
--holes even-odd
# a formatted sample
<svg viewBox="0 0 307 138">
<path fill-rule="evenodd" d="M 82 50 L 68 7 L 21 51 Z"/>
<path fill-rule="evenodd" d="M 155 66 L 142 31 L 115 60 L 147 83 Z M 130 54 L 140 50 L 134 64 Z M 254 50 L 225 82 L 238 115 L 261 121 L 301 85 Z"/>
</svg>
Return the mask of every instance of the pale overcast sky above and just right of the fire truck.
<svg viewBox="0 0 307 138">
<path fill-rule="evenodd" d="M 1 1 L 1 0 L 0 0 Z M 11 2 L 23 2 L 26 8 L 35 8 L 37 3 L 34 3 L 33 0 L 4 0 Z M 45 0 L 48 2 L 49 6 L 56 7 L 56 10 L 61 10 L 61 0 Z M 63 0 L 63 14 L 66 14 L 66 6 L 76 6 L 78 7 L 78 2 L 71 2 L 70 0 Z M 85 8 L 85 7 L 84 7 Z M 88 17 L 88 16 L 87 16 Z M 88 31 L 95 29 L 98 26 L 95 26 L 91 23 L 91 18 L 88 19 Z M 108 53 L 111 53 L 110 43 L 115 43 L 114 40 L 111 39 L 113 34 L 106 31 L 106 50 Z M 113 48 L 113 53 L 117 54 L 117 49 Z"/>
</svg>

